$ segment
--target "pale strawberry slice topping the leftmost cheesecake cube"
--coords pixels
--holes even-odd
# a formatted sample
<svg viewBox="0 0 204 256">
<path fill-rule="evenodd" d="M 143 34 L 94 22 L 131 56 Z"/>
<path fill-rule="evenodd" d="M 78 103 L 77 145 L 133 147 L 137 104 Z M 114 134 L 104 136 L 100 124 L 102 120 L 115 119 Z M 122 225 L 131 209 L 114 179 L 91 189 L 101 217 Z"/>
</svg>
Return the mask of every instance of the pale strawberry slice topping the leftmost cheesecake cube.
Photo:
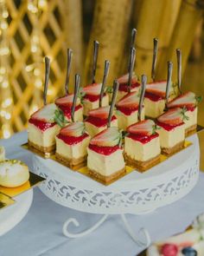
<svg viewBox="0 0 204 256">
<path fill-rule="evenodd" d="M 37 110 L 30 118 L 38 121 L 54 122 L 54 115 L 57 109 L 57 106 L 51 103 Z"/>
</svg>

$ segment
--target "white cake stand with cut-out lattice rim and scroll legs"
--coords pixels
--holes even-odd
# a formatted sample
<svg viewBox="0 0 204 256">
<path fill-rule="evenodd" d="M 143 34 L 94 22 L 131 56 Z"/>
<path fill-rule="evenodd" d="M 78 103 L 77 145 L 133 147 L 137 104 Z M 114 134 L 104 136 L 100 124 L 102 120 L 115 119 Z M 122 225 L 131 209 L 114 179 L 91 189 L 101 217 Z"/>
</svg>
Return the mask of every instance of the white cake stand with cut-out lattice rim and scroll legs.
<svg viewBox="0 0 204 256">
<path fill-rule="evenodd" d="M 122 179 L 104 186 L 97 181 L 73 172 L 67 167 L 33 155 L 33 170 L 47 180 L 41 184 L 42 193 L 65 207 L 86 213 L 104 214 L 94 226 L 82 233 L 70 233 L 69 224 L 79 226 L 76 219 L 68 219 L 63 226 L 67 237 L 77 238 L 91 233 L 109 214 L 121 214 L 124 225 L 140 246 L 150 244 L 147 230 L 142 229 L 145 240 L 136 236 L 125 213 L 143 214 L 181 199 L 194 187 L 199 178 L 200 148 L 197 135 L 188 138 L 193 144 L 140 174 L 133 171 Z"/>
</svg>

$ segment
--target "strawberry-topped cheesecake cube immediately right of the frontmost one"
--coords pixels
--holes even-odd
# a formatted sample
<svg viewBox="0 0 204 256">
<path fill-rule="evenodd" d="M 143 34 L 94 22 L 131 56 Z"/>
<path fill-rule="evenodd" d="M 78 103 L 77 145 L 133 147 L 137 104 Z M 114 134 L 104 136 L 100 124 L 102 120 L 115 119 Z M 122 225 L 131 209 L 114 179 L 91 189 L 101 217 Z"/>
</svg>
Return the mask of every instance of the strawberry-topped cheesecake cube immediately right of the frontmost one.
<svg viewBox="0 0 204 256">
<path fill-rule="evenodd" d="M 139 121 L 127 128 L 124 156 L 128 165 L 146 170 L 160 161 L 160 141 L 152 120 Z"/>
</svg>

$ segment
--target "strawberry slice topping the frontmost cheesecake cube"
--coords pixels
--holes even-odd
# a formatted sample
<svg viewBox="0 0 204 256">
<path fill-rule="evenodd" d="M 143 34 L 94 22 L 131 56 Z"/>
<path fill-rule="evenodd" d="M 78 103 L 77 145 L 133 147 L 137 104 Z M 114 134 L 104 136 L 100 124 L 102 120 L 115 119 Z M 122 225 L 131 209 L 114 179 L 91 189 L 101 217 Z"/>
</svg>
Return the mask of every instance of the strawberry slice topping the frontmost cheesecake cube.
<svg viewBox="0 0 204 256">
<path fill-rule="evenodd" d="M 98 135 L 95 135 L 90 144 L 96 145 L 99 147 L 114 147 L 119 145 L 121 141 L 121 133 L 118 131 L 118 128 L 111 127 L 106 128 Z"/>
</svg>

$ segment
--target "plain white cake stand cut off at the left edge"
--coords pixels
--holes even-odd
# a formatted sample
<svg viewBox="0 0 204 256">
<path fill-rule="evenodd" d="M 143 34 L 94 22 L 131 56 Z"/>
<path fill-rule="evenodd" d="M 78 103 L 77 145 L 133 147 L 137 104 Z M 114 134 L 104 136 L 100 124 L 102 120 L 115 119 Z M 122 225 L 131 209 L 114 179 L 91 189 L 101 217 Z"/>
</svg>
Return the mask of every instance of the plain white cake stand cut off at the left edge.
<svg viewBox="0 0 204 256">
<path fill-rule="evenodd" d="M 0 236 L 16 226 L 28 213 L 33 201 L 33 189 L 14 198 L 16 203 L 0 211 Z"/>
</svg>

